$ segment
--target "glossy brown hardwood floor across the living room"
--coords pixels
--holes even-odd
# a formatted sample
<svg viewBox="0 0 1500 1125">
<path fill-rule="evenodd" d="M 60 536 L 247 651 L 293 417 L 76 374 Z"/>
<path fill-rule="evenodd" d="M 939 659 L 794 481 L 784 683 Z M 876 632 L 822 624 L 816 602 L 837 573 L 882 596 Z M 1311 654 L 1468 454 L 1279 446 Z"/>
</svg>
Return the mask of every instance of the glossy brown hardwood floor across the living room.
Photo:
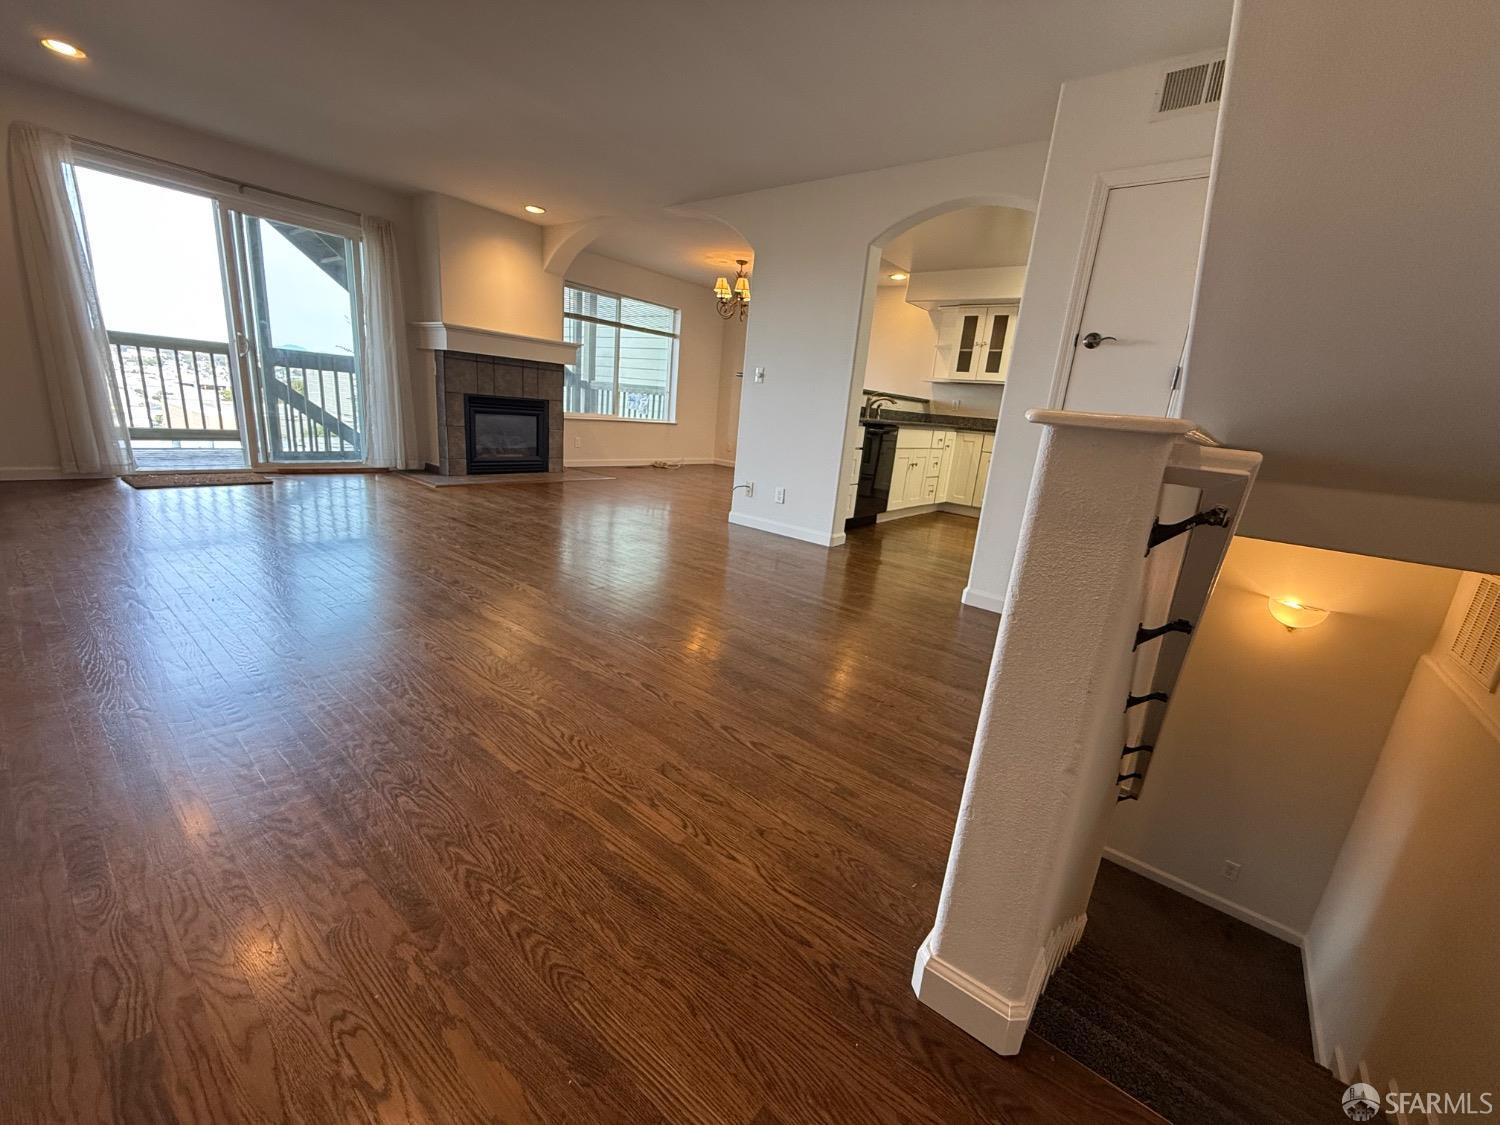
<svg viewBox="0 0 1500 1125">
<path fill-rule="evenodd" d="M 0 484 L 0 1119 L 1156 1120 L 921 1006 L 972 520 Z"/>
</svg>

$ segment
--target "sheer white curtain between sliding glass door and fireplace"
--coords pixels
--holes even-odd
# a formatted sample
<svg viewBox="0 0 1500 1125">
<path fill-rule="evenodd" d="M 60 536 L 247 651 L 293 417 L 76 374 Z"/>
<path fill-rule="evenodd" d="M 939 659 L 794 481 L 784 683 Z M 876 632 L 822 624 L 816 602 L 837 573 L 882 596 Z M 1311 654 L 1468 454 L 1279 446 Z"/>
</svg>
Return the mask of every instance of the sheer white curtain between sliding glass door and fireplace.
<svg viewBox="0 0 1500 1125">
<path fill-rule="evenodd" d="M 376 468 L 422 468 L 417 423 L 406 364 L 406 316 L 400 300 L 396 234 L 386 219 L 360 220 L 364 242 L 364 464 Z"/>
</svg>

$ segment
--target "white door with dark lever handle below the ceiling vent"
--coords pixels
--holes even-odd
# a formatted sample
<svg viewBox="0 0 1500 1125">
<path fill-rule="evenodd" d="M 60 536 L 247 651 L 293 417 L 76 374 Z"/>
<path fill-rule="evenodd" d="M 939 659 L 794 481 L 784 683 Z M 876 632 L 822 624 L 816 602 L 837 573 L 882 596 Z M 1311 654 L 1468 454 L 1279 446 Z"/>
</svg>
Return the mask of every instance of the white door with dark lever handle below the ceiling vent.
<svg viewBox="0 0 1500 1125">
<path fill-rule="evenodd" d="M 1167 412 L 1188 334 L 1208 183 L 1194 177 L 1110 190 L 1065 410 Z"/>
</svg>

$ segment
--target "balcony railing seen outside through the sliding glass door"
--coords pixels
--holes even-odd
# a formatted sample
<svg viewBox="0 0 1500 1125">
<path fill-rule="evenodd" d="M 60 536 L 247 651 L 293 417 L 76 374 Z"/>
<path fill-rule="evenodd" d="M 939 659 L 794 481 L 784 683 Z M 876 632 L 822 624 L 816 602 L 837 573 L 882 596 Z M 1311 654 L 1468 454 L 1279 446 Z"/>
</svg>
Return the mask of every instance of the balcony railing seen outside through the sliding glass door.
<svg viewBox="0 0 1500 1125">
<path fill-rule="evenodd" d="M 110 333 L 132 441 L 238 441 L 230 346 L 177 336 Z M 274 348 L 266 381 L 267 442 L 276 459 L 363 456 L 363 398 L 352 356 Z"/>
</svg>

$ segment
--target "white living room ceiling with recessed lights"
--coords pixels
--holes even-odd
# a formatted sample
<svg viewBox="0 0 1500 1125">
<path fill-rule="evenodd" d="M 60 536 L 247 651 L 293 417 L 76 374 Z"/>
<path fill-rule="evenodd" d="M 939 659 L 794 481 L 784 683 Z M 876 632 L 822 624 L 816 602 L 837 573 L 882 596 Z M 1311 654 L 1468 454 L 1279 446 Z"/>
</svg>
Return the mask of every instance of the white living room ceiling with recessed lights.
<svg viewBox="0 0 1500 1125">
<path fill-rule="evenodd" d="M 9 0 L 0 68 L 554 224 L 1041 140 L 1065 78 L 1222 44 L 1230 6 Z"/>
</svg>

